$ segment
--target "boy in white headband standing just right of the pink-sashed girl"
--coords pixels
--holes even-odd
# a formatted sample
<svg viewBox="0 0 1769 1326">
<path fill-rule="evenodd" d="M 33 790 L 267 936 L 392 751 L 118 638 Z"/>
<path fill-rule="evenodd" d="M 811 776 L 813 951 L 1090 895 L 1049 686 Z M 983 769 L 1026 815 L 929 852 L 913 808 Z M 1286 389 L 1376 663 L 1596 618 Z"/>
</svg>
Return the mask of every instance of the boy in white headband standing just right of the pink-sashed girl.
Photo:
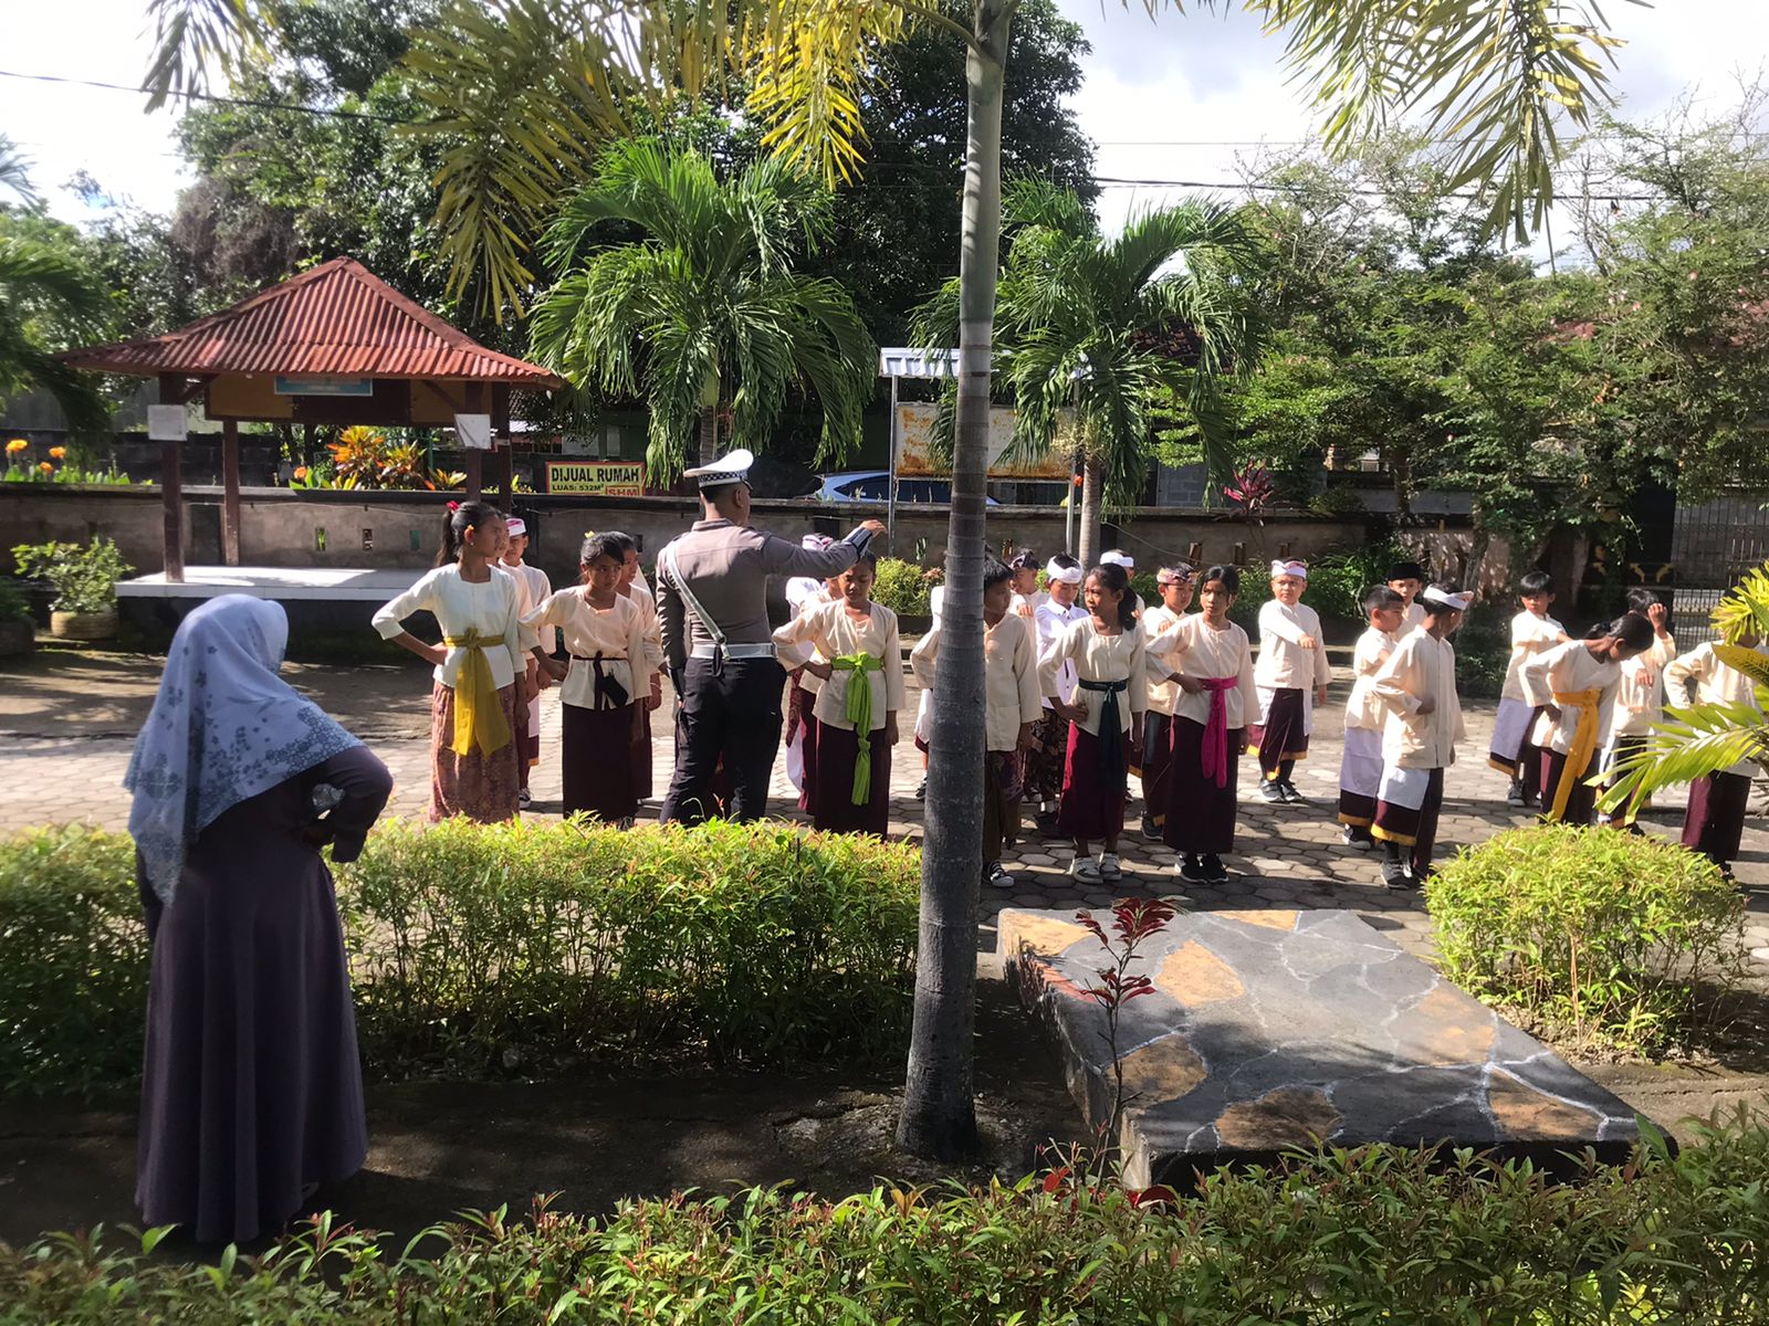
<svg viewBox="0 0 1769 1326">
<path fill-rule="evenodd" d="M 1327 647 L 1321 619 L 1302 603 L 1309 564 L 1272 562 L 1272 599 L 1260 608 L 1260 659 L 1252 681 L 1260 695 L 1260 721 L 1249 734 L 1260 751 L 1260 796 L 1270 804 L 1302 801 L 1293 774 L 1309 753 L 1314 705 L 1327 704 Z"/>
</svg>

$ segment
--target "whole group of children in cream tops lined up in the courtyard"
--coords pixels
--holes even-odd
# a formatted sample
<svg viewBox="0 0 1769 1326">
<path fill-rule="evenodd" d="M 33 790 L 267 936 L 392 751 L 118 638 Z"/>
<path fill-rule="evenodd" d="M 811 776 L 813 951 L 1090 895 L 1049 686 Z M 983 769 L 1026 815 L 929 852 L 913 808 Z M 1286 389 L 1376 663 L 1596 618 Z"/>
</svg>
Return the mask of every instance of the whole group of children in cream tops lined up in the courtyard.
<svg viewBox="0 0 1769 1326">
<path fill-rule="evenodd" d="M 430 815 L 492 822 L 529 803 L 538 697 L 559 684 L 564 812 L 632 822 L 651 794 L 651 711 L 662 702 L 663 668 L 637 543 L 619 532 L 586 536 L 578 583 L 557 592 L 524 562 L 525 545 L 520 520 L 485 502 L 451 502 L 437 568 L 375 613 L 384 638 L 435 665 Z M 1123 873 L 1118 843 L 1136 773 L 1143 834 L 1173 847 L 1180 877 L 1192 884 L 1228 879 L 1222 857 L 1235 845 L 1244 753 L 1258 753 L 1267 803 L 1304 801 L 1295 764 L 1307 755 L 1330 679 L 1320 617 L 1302 603 L 1307 566 L 1272 564 L 1258 654 L 1229 621 L 1237 568 L 1166 566 L 1155 578 L 1160 603 L 1148 608 L 1130 589 L 1132 569 L 1122 552 L 1088 571 L 1056 555 L 1038 591 L 1028 553 L 985 568 L 989 884 L 1015 882 L 1001 857 L 1017 840 L 1022 799 L 1035 803 L 1042 831 L 1074 842 L 1072 877 L 1111 882 Z M 793 582 L 793 617 L 775 631 L 793 677 L 787 767 L 821 829 L 888 827 L 904 674 L 897 615 L 870 598 L 876 575 L 867 555 L 835 580 Z M 1465 737 L 1451 636 L 1472 596 L 1424 582 L 1419 564 L 1401 562 L 1389 583 L 1362 596 L 1367 629 L 1353 649 L 1344 713 L 1344 842 L 1380 847 L 1390 888 L 1429 875 L 1444 776 Z M 1645 741 L 1666 693 L 1681 704 L 1693 686 L 1704 702 L 1753 702 L 1750 679 L 1712 645 L 1677 654 L 1665 606 L 1649 591 L 1631 591 L 1626 613 L 1576 640 L 1548 615 L 1546 576 L 1523 576 L 1520 599 L 1489 750 L 1489 762 L 1511 778 L 1514 806 L 1590 824 L 1599 819 L 1592 774 Z M 419 610 L 435 615 L 440 644 L 405 631 L 403 621 Z M 915 723 L 923 753 L 938 744 L 925 698 L 939 654 L 936 608 L 909 656 L 923 688 Z M 1691 787 L 1684 843 L 1723 866 L 1739 850 L 1750 774 L 1746 764 Z M 1631 808 L 1603 822 L 1638 833 Z"/>
</svg>

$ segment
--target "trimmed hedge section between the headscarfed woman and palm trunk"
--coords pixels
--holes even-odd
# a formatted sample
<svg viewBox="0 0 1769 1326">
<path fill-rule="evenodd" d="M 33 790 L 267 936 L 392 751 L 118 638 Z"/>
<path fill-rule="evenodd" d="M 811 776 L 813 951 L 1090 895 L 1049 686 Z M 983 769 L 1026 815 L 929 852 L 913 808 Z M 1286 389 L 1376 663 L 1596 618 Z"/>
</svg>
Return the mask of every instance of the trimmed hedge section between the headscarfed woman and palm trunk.
<svg viewBox="0 0 1769 1326">
<path fill-rule="evenodd" d="M 389 824 L 338 880 L 380 1071 L 679 1050 L 778 1064 L 906 1041 L 909 845 L 780 824 Z"/>
</svg>

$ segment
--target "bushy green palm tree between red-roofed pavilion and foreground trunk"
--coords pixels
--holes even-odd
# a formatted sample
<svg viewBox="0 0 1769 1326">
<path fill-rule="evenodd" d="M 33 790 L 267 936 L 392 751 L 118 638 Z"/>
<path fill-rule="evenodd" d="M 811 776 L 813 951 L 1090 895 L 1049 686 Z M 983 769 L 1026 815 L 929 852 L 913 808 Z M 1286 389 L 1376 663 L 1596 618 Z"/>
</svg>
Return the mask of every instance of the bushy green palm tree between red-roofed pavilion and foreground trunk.
<svg viewBox="0 0 1769 1326">
<path fill-rule="evenodd" d="M 727 410 L 732 440 L 766 451 L 794 385 L 823 407 L 817 460 L 839 460 L 860 440 L 877 347 L 842 286 L 793 271 L 830 221 L 828 189 L 780 157 L 724 182 L 697 152 L 623 140 L 547 232 L 566 276 L 534 308 L 534 352 L 649 405 L 658 483 L 715 458 Z"/>
</svg>

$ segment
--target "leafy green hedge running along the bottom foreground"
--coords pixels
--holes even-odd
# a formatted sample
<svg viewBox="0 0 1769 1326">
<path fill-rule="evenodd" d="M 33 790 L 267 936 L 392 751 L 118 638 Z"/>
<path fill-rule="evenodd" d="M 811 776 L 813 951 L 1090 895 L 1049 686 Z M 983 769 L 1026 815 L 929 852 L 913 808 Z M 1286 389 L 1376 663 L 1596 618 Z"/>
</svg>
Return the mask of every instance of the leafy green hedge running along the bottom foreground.
<svg viewBox="0 0 1769 1326">
<path fill-rule="evenodd" d="M 538 1204 L 531 1220 L 469 1215 L 398 1257 L 331 1223 L 219 1266 L 58 1236 L 0 1246 L 0 1303 L 18 1326 L 1760 1326 L 1769 1130 L 1735 1123 L 1675 1160 L 1649 1144 L 1576 1185 L 1367 1147 L 1157 1204 L 1060 1172 L 835 1204 L 678 1195 L 605 1222 Z"/>
</svg>

